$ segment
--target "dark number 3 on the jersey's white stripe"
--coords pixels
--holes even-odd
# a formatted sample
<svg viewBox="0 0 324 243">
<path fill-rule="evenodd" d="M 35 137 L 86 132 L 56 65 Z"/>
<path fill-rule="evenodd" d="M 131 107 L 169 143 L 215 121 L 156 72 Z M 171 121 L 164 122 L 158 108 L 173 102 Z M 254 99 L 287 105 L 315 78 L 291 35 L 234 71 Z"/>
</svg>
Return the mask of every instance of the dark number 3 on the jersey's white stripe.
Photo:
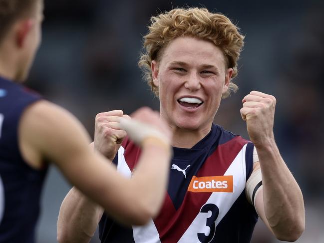
<svg viewBox="0 0 324 243">
<path fill-rule="evenodd" d="M 199 241 L 202 243 L 211 242 L 215 235 L 215 221 L 218 217 L 219 209 L 215 204 L 205 204 L 201 208 L 200 213 L 208 213 L 209 211 L 212 212 L 212 215 L 206 219 L 206 226 L 208 226 L 210 229 L 208 236 L 206 236 L 205 233 L 197 234 Z"/>
</svg>

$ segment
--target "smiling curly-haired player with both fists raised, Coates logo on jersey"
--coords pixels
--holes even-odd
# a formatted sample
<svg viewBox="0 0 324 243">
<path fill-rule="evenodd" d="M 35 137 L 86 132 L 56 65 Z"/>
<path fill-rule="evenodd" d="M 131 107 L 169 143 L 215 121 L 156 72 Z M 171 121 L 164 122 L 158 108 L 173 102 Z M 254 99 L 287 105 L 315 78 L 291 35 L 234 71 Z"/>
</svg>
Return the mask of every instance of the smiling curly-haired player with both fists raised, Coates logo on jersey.
<svg viewBox="0 0 324 243">
<path fill-rule="evenodd" d="M 243 39 L 226 16 L 203 8 L 151 18 L 139 66 L 159 97 L 160 117 L 173 130 L 164 204 L 146 226 L 129 229 L 100 207 L 78 203 L 86 199 L 71 189 L 58 219 L 64 229 L 58 235 L 66 236 L 61 243 L 88 242 L 99 222 L 102 243 L 249 243 L 258 216 L 279 240 L 301 236 L 303 196 L 275 143 L 275 97 L 252 91 L 243 98 L 241 115 L 251 141 L 213 124 L 221 99 L 237 89 L 232 79 Z M 112 127 L 122 115 L 98 114 L 95 147 L 108 158 L 117 154 L 117 170 L 130 177 L 137 173 L 141 150 Z M 104 137 L 101 127 L 110 127 L 110 136 Z M 77 222 L 81 216 L 85 220 Z M 80 235 L 83 240 L 74 241 Z"/>
</svg>

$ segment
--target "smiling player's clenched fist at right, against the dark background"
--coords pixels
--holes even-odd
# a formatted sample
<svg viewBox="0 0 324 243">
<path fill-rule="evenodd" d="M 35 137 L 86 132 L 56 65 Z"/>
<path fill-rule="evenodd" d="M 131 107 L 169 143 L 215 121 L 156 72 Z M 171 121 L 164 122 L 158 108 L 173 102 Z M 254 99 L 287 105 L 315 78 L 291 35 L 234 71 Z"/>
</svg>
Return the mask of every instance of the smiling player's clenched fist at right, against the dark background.
<svg viewBox="0 0 324 243">
<path fill-rule="evenodd" d="M 251 91 L 243 100 L 241 116 L 247 122 L 250 140 L 256 147 L 274 140 L 276 98 L 258 91 Z"/>
</svg>

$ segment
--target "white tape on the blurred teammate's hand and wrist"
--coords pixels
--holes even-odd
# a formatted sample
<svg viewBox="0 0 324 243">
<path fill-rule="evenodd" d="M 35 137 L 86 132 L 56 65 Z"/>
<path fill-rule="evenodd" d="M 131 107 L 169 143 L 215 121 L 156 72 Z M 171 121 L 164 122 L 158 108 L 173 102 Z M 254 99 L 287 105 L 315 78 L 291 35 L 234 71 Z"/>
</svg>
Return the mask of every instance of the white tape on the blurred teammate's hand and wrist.
<svg viewBox="0 0 324 243">
<path fill-rule="evenodd" d="M 149 124 L 136 121 L 134 119 L 120 118 L 119 128 L 125 130 L 127 135 L 137 144 L 141 145 L 143 140 L 148 137 L 154 137 L 166 145 L 170 144 L 169 139 L 163 133 Z"/>
</svg>

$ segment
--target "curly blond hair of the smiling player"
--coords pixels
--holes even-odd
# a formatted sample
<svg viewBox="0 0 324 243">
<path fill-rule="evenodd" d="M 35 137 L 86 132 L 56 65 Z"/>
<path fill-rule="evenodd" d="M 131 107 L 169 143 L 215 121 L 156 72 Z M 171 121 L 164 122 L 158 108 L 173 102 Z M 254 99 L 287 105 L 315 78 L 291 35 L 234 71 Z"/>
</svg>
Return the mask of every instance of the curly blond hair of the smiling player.
<svg viewBox="0 0 324 243">
<path fill-rule="evenodd" d="M 206 8 L 175 8 L 158 16 L 152 16 L 148 28 L 149 32 L 144 36 L 144 52 L 141 54 L 138 66 L 143 70 L 144 79 L 156 96 L 159 96 L 159 90 L 153 83 L 152 60 L 159 61 L 163 49 L 170 41 L 180 36 L 191 36 L 213 42 L 223 51 L 228 68 L 233 68 L 232 79 L 237 75 L 237 61 L 243 48 L 244 36 L 240 34 L 239 27 L 225 15 L 209 12 Z M 232 79 L 223 98 L 238 89 Z"/>
</svg>

